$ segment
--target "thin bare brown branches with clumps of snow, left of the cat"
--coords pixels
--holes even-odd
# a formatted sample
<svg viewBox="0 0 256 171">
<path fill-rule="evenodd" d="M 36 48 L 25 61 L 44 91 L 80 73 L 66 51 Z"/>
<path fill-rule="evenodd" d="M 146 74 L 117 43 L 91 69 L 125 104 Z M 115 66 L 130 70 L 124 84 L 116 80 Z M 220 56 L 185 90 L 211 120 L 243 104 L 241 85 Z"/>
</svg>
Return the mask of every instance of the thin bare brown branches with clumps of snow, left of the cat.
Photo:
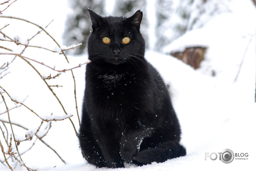
<svg viewBox="0 0 256 171">
<path fill-rule="evenodd" d="M 15 1 L 16 1 L 16 0 L 15 0 Z M 14 3 L 15 1 L 13 1 L 12 3 Z M 3 4 L 5 4 L 5 3 L 9 3 L 9 2 L 10 2 L 10 0 L 6 0 L 6 2 L 4 2 L 4 3 L 0 4 L 0 5 L 3 5 Z M 12 3 L 11 3 L 11 4 L 12 4 Z M 10 4 L 10 5 L 11 5 L 11 4 Z M 10 5 L 8 5 L 8 7 L 9 7 Z M 7 7 L 7 8 L 8 8 L 8 7 Z M 5 8 L 4 10 L 6 10 L 7 8 Z M 3 10 L 3 11 L 4 11 L 4 10 Z M 0 13 L 2 13 L 3 11 L 0 11 Z M 74 66 L 74 65 L 73 65 L 73 66 L 70 67 L 70 68 L 56 69 L 55 66 L 54 66 L 54 67 L 50 67 L 50 66 L 48 66 L 47 64 L 45 64 L 44 62 L 38 62 L 37 60 L 31 59 L 31 58 L 28 58 L 28 57 L 25 57 L 25 55 L 22 55 L 22 54 L 24 53 L 25 49 L 28 48 L 28 47 L 31 47 L 31 48 L 40 48 L 40 49 L 48 50 L 48 51 L 53 52 L 53 53 L 63 54 L 64 57 L 65 57 L 65 59 L 67 60 L 67 63 L 69 63 L 68 58 L 67 58 L 67 56 L 66 56 L 66 54 L 65 54 L 65 51 L 66 51 L 66 50 L 69 50 L 69 49 L 74 49 L 74 48 L 80 46 L 81 44 L 72 45 L 72 46 L 70 46 L 70 47 L 60 46 L 60 45 L 58 44 L 58 42 L 45 30 L 45 28 L 47 28 L 48 25 L 49 25 L 50 23 L 52 23 L 52 21 L 51 21 L 45 28 L 43 28 L 43 27 L 39 26 L 38 24 L 35 24 L 35 23 L 33 23 L 33 22 L 31 22 L 31 21 L 28 21 L 28 20 L 26 20 L 26 19 L 16 18 L 16 17 L 13 17 L 13 16 L 2 16 L 2 15 L 0 15 L 0 18 L 8 18 L 8 19 L 21 20 L 21 21 L 24 21 L 24 22 L 26 22 L 26 23 L 32 24 L 32 25 L 34 25 L 34 26 L 37 26 L 37 27 L 40 29 L 38 32 L 35 32 L 35 34 L 34 34 L 32 37 L 30 37 L 29 39 L 27 39 L 27 40 L 25 41 L 25 43 L 24 43 L 23 41 L 21 41 L 21 39 L 19 39 L 18 36 L 15 36 L 15 38 L 13 38 L 13 36 L 6 35 L 6 34 L 3 32 L 4 28 L 6 28 L 9 24 L 3 26 L 2 28 L 0 28 L 0 34 L 3 35 L 3 36 L 1 36 L 0 41 L 5 41 L 6 43 L 4 44 L 4 46 L 0 46 L 0 48 L 1 48 L 1 49 L 4 49 L 4 52 L 5 52 L 5 50 L 6 50 L 6 53 L 0 53 L 0 55 L 10 55 L 10 56 L 13 56 L 13 55 L 14 55 L 15 57 L 18 56 L 19 58 L 23 59 L 26 63 L 28 63 L 28 64 L 30 65 L 30 67 L 32 67 L 32 68 L 35 70 L 35 72 L 38 73 L 38 75 L 40 76 L 40 78 L 41 78 L 41 79 L 44 81 L 44 83 L 47 85 L 48 89 L 52 92 L 52 94 L 54 95 L 54 97 L 57 99 L 57 101 L 59 102 L 59 104 L 61 105 L 61 107 L 62 107 L 62 109 L 63 109 L 63 111 L 64 111 L 64 113 L 65 113 L 64 116 L 39 116 L 38 113 L 36 113 L 36 112 L 35 112 L 34 110 L 32 110 L 30 107 L 26 106 L 26 105 L 24 104 L 24 101 L 20 101 L 18 98 L 17 98 L 17 99 L 12 98 L 12 97 L 10 96 L 10 94 L 9 94 L 5 89 L 3 89 L 3 87 L 0 86 L 0 88 L 3 89 L 3 91 L 1 90 L 1 92 L 0 92 L 0 93 L 1 93 L 1 97 L 3 98 L 3 101 L 2 101 L 2 102 L 5 103 L 4 105 L 5 105 L 5 108 L 6 108 L 6 111 L 1 111 L 2 113 L 0 113 L 0 115 L 7 113 L 6 116 L 8 116 L 8 120 L 9 120 L 9 121 L 1 121 L 1 119 L 0 119 L 0 122 L 1 122 L 0 128 L 1 128 L 1 131 L 2 131 L 3 136 L 4 136 L 4 140 L 6 141 L 6 145 L 7 145 L 7 147 L 8 147 L 8 152 L 6 152 L 4 155 L 6 155 L 6 154 L 9 155 L 9 157 L 7 157 L 7 158 L 5 157 L 5 159 L 6 159 L 6 160 L 5 160 L 5 163 L 7 162 L 7 160 L 9 160 L 8 158 L 11 158 L 11 159 L 12 159 L 13 161 L 15 161 L 16 163 L 20 163 L 22 166 L 26 167 L 27 170 L 32 171 L 31 168 L 29 168 L 29 167 L 27 167 L 27 166 L 25 165 L 25 162 L 22 160 L 21 155 L 23 155 L 26 151 L 29 151 L 30 149 L 32 149 L 32 147 L 35 145 L 35 141 L 37 141 L 37 139 L 40 140 L 41 142 L 43 142 L 44 145 L 47 146 L 48 148 L 50 148 L 52 151 L 54 151 L 54 152 L 56 153 L 56 155 L 57 155 L 64 163 L 66 163 L 66 162 L 61 158 L 61 156 L 59 156 L 59 154 L 58 154 L 52 147 L 50 147 L 46 142 L 44 142 L 44 141 L 42 140 L 42 138 L 43 138 L 44 136 L 46 136 L 47 133 L 48 133 L 48 131 L 50 130 L 52 121 L 61 121 L 61 120 L 67 119 L 67 118 L 70 120 L 70 122 L 71 122 L 71 124 L 72 124 L 72 126 L 73 126 L 73 128 L 74 128 L 74 131 L 75 131 L 75 133 L 76 133 L 76 135 L 77 135 L 76 128 L 75 128 L 75 126 L 74 126 L 74 124 L 73 124 L 73 122 L 72 122 L 72 120 L 71 120 L 71 118 L 70 118 L 70 117 L 72 117 L 73 115 L 72 115 L 72 114 L 68 114 L 68 113 L 66 112 L 66 109 L 64 108 L 62 102 L 59 100 L 59 98 L 57 97 L 57 95 L 54 93 L 54 91 L 53 91 L 53 89 L 52 89 L 52 87 L 57 87 L 57 88 L 58 88 L 58 87 L 62 87 L 62 86 L 59 86 L 58 84 L 57 84 L 57 85 L 49 85 L 49 84 L 47 83 L 47 80 L 57 78 L 62 72 L 70 71 L 70 72 L 72 73 L 72 78 L 73 78 L 73 82 L 74 82 L 74 99 L 75 99 L 75 103 L 76 103 L 77 117 L 78 117 L 78 121 L 79 121 L 79 125 L 80 125 L 80 119 L 79 119 L 78 107 L 77 107 L 77 98 L 76 98 L 76 81 L 75 81 L 75 77 L 74 77 L 74 74 L 73 74 L 73 69 L 78 68 L 78 67 L 81 67 L 82 65 L 84 65 L 84 64 L 86 64 L 86 63 L 78 64 L 77 66 Z M 54 43 L 57 45 L 56 48 L 54 48 L 54 49 L 49 49 L 49 48 L 41 47 L 40 45 L 36 45 L 36 46 L 35 46 L 35 45 L 30 44 L 29 41 L 32 40 L 33 38 L 35 38 L 35 36 L 39 35 L 39 34 L 42 33 L 42 32 L 44 32 L 45 34 L 47 34 L 47 35 L 54 41 Z M 20 45 L 19 48 L 21 48 L 22 51 L 21 51 L 21 52 L 14 52 L 14 51 L 13 51 L 13 50 L 14 50 L 13 48 L 9 48 L 9 47 L 8 47 L 8 42 L 13 42 L 13 43 L 15 43 L 16 45 Z M 23 49 L 22 49 L 22 48 L 23 48 Z M 9 52 L 8 52 L 8 51 L 9 51 Z M 15 58 L 14 58 L 14 59 L 15 59 Z M 14 59 L 13 59 L 13 60 L 14 60 Z M 54 70 L 54 71 L 56 71 L 56 72 L 59 72 L 59 73 L 58 73 L 57 75 L 54 75 L 53 77 L 52 77 L 51 75 L 49 75 L 47 78 L 45 78 L 45 77 L 43 77 L 42 74 L 37 70 L 37 68 L 35 68 L 34 65 L 33 65 L 32 63 L 30 63 L 31 61 L 36 62 L 36 63 L 39 63 L 39 64 L 41 64 L 41 65 L 44 65 L 45 67 L 48 67 L 48 68 L 50 68 L 50 69 L 52 69 L 52 70 Z M 12 62 L 13 62 L 13 61 L 12 61 Z M 10 63 L 11 63 L 11 62 L 10 62 Z M 5 62 L 5 64 L 2 64 L 2 65 L 0 66 L 0 69 L 1 69 L 0 74 L 3 73 L 3 74 L 6 75 L 6 70 L 9 69 L 8 65 L 9 65 L 10 63 Z M 90 62 L 88 62 L 88 63 L 90 63 Z M 3 77 L 3 74 L 1 74 L 2 77 Z M 0 79 L 1 79 L 1 78 L 0 78 Z M 3 92 L 4 92 L 5 94 L 3 94 Z M 6 104 L 3 95 L 6 96 L 6 97 L 8 96 L 8 97 L 11 99 L 11 101 L 15 102 L 15 103 L 18 104 L 18 105 L 17 105 L 16 107 L 13 107 L 13 106 L 12 106 L 11 108 L 9 108 L 9 104 Z M 3 105 L 3 104 L 1 104 L 1 105 Z M 18 127 L 23 128 L 23 129 L 25 129 L 25 130 L 28 130 L 28 129 L 25 128 L 24 126 L 22 126 L 22 125 L 20 125 L 20 124 L 15 124 L 15 123 L 11 122 L 11 120 L 10 120 L 10 110 L 11 110 L 11 109 L 14 109 L 14 108 L 17 108 L 17 107 L 20 107 L 20 106 L 24 106 L 25 108 L 29 109 L 29 111 L 32 112 L 33 114 L 35 114 L 38 118 L 40 118 L 40 119 L 42 120 L 42 122 L 41 122 L 40 126 L 37 128 L 37 130 L 31 129 L 31 130 L 27 131 L 27 132 L 26 132 L 26 135 L 28 135 L 28 136 L 25 136 L 24 139 L 21 138 L 20 140 L 16 140 L 16 139 L 15 139 L 15 136 L 14 136 L 13 126 L 14 126 L 14 127 L 18 126 Z M 45 122 L 48 122 L 49 125 L 47 125 L 47 127 L 45 127 L 45 130 L 43 130 L 43 128 L 41 128 L 41 127 L 42 127 L 42 124 L 45 123 Z M 15 146 L 16 146 L 16 149 L 17 149 L 17 152 L 18 152 L 18 156 L 17 156 L 17 155 L 14 155 L 14 153 L 12 152 L 12 145 L 11 145 L 11 141 L 12 141 L 11 138 L 12 138 L 12 137 L 11 137 L 10 139 L 8 139 L 8 135 L 10 136 L 10 133 L 8 133 L 8 129 L 7 129 L 7 127 L 5 126 L 5 124 L 10 124 L 10 127 L 11 127 L 11 134 L 13 135 L 13 140 L 14 140 L 14 142 L 15 142 Z M 4 127 L 3 127 L 2 125 L 5 127 L 6 131 L 4 130 Z M 2 126 L 2 127 L 1 127 L 1 126 Z M 8 126 L 9 126 L 9 125 L 8 125 Z M 3 128 L 3 129 L 2 129 L 2 128 Z M 41 129 L 41 130 L 40 130 L 40 129 Z M 5 132 L 4 132 L 4 131 L 5 131 Z M 43 131 L 43 132 L 41 132 L 41 131 Z M 46 132 L 45 132 L 45 131 L 46 131 Z M 42 135 L 42 133 L 43 133 L 43 135 Z M 32 137 L 33 137 L 33 136 L 36 136 L 36 137 L 37 137 L 37 139 L 33 142 L 33 144 L 32 144 L 32 145 L 28 148 L 28 150 L 26 150 L 24 153 L 19 153 L 18 145 L 20 145 L 20 143 L 21 143 L 22 141 L 30 141 L 30 140 L 32 140 Z M 39 136 L 40 136 L 40 137 L 39 137 Z M 10 142 L 9 142 L 9 140 L 10 140 Z M 2 161 L 1 161 L 1 162 L 2 162 Z M 4 162 L 4 161 L 3 161 L 3 162 Z M 9 165 L 8 163 L 6 163 L 6 164 Z"/>
</svg>

